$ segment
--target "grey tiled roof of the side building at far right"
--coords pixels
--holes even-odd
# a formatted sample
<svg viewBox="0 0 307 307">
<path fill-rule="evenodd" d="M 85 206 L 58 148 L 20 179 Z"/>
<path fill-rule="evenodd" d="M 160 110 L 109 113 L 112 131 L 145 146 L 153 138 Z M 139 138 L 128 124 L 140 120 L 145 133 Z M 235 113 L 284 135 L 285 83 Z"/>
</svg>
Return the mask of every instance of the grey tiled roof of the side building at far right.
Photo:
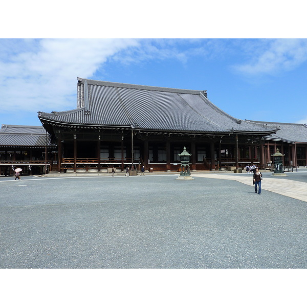
<svg viewBox="0 0 307 307">
<path fill-rule="evenodd" d="M 307 143 L 307 125 L 306 124 L 290 124 L 290 123 L 275 123 L 275 122 L 262 122 L 250 121 L 262 125 L 276 125 L 279 130 L 276 134 L 264 137 L 266 140 L 283 141 L 287 143 Z"/>
</svg>

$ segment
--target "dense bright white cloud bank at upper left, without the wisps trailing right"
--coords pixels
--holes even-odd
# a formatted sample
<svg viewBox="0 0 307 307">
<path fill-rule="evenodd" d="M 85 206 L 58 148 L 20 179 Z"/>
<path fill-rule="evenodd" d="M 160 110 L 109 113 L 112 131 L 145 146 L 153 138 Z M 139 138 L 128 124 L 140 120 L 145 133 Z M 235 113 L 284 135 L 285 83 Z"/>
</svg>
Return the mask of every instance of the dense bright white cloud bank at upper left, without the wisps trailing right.
<svg viewBox="0 0 307 307">
<path fill-rule="evenodd" d="M 90 78 L 108 57 L 138 44 L 135 39 L 0 40 L 2 112 L 75 108 L 77 77 Z"/>
</svg>

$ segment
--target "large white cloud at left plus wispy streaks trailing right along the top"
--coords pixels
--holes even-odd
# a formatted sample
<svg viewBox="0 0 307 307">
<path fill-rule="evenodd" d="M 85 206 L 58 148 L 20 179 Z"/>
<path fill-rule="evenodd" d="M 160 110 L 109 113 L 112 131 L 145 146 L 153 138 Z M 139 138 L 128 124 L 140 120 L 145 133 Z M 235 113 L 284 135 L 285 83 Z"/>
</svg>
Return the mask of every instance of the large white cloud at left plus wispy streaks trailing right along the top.
<svg viewBox="0 0 307 307">
<path fill-rule="evenodd" d="M 203 43 L 186 39 L 0 39 L 2 113 L 75 108 L 77 77 L 91 78 L 107 60 L 129 64 L 172 58 L 184 64 L 190 56 L 208 54 Z"/>
</svg>

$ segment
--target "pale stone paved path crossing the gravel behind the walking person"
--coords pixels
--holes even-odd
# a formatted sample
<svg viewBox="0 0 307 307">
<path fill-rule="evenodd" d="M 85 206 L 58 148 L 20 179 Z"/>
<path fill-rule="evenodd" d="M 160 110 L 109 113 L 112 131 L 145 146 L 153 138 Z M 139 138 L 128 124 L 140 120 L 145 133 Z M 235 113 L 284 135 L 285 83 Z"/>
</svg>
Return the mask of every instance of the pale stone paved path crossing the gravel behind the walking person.
<svg viewBox="0 0 307 307">
<path fill-rule="evenodd" d="M 192 177 L 215 178 L 224 180 L 236 180 L 238 182 L 252 186 L 252 177 L 238 175 L 222 175 L 216 173 L 192 174 Z M 289 180 L 286 178 L 264 177 L 261 189 L 288 196 L 303 202 L 307 202 L 307 183 Z"/>
</svg>

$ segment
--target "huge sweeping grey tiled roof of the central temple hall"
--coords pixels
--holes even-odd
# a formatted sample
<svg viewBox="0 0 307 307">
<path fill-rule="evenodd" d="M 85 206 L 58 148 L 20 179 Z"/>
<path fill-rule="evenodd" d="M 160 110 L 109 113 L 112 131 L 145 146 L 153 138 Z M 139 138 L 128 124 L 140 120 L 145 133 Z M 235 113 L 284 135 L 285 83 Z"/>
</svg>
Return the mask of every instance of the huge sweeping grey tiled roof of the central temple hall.
<svg viewBox="0 0 307 307">
<path fill-rule="evenodd" d="M 77 109 L 39 112 L 42 122 L 198 133 L 265 134 L 276 130 L 276 125 L 265 127 L 226 114 L 204 91 L 78 79 Z"/>
</svg>

